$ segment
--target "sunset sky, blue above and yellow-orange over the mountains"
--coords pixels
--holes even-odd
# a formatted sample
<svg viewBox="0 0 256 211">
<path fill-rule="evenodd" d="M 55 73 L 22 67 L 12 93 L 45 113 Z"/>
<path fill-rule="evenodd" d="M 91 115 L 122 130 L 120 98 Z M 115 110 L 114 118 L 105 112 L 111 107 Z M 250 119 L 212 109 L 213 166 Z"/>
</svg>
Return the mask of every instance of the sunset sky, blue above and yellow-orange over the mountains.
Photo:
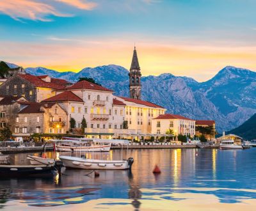
<svg viewBox="0 0 256 211">
<path fill-rule="evenodd" d="M 211 79 L 225 66 L 256 70 L 255 0 L 0 0 L 0 60 L 78 72 Z"/>
</svg>

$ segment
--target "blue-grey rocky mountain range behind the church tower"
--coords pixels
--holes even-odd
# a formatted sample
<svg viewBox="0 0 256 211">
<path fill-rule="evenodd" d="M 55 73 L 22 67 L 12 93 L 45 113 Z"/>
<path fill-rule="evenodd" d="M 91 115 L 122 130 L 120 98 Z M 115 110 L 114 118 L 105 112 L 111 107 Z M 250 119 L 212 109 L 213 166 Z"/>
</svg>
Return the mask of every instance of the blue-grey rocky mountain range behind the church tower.
<svg viewBox="0 0 256 211">
<path fill-rule="evenodd" d="M 43 67 L 26 68 L 33 75 L 49 75 L 76 82 L 92 77 L 96 82 L 129 97 L 129 71 L 118 65 L 84 68 L 80 72 L 57 72 Z M 196 120 L 216 120 L 218 132 L 238 127 L 256 113 L 256 73 L 226 66 L 212 79 L 197 82 L 172 74 L 141 77 L 142 99 L 162 105 L 168 113 Z"/>
</svg>

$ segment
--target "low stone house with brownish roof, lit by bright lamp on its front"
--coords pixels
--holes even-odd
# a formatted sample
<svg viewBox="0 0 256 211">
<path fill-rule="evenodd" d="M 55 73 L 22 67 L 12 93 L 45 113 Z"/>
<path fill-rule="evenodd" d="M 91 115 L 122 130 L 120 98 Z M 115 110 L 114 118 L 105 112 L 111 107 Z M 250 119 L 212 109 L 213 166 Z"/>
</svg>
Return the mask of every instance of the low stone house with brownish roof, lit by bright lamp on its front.
<svg viewBox="0 0 256 211">
<path fill-rule="evenodd" d="M 31 103 L 19 111 L 14 136 L 65 134 L 68 130 L 67 117 L 67 111 L 57 103 Z"/>
</svg>

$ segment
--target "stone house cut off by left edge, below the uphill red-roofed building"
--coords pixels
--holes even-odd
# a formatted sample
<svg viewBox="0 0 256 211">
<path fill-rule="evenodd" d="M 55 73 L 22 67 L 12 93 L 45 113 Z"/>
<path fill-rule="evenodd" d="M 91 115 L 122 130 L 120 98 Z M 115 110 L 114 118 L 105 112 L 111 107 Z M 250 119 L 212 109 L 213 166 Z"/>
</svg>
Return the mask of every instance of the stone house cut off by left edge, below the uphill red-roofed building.
<svg viewBox="0 0 256 211">
<path fill-rule="evenodd" d="M 0 129 L 9 127 L 14 131 L 18 112 L 28 104 L 28 100 L 24 97 L 0 95 Z"/>
</svg>

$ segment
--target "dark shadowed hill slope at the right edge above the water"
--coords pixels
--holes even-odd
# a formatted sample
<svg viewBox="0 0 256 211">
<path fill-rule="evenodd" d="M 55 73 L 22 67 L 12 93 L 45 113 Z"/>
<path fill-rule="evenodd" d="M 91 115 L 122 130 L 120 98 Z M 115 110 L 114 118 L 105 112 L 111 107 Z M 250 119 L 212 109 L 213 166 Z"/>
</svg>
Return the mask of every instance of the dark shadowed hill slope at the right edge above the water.
<svg viewBox="0 0 256 211">
<path fill-rule="evenodd" d="M 228 131 L 227 134 L 236 134 L 248 140 L 256 139 L 256 114 L 236 129 Z"/>
</svg>

